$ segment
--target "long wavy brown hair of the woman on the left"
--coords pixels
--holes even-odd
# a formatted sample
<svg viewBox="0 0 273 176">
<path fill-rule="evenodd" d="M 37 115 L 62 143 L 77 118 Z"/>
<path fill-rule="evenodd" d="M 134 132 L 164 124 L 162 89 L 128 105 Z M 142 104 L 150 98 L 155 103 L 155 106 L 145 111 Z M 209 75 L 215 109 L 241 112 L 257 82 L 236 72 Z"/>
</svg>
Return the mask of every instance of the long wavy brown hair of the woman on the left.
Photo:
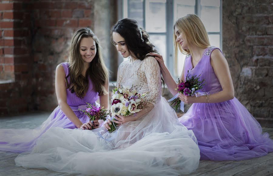
<svg viewBox="0 0 273 176">
<path fill-rule="evenodd" d="M 96 55 L 90 62 L 90 67 L 87 69 L 85 77 L 82 75 L 84 69 L 84 61 L 79 51 L 79 44 L 82 38 L 92 37 L 96 43 Z M 70 76 L 70 82 L 67 78 Z M 108 94 L 108 90 L 104 88 L 105 82 L 108 80 L 108 69 L 103 61 L 99 39 L 94 32 L 89 28 L 81 28 L 76 31 L 71 40 L 69 51 L 69 75 L 66 76 L 66 88 L 69 88 L 71 93 L 76 93 L 77 97 L 83 98 L 88 90 L 88 78 L 93 83 L 93 91 L 99 95 Z"/>
</svg>

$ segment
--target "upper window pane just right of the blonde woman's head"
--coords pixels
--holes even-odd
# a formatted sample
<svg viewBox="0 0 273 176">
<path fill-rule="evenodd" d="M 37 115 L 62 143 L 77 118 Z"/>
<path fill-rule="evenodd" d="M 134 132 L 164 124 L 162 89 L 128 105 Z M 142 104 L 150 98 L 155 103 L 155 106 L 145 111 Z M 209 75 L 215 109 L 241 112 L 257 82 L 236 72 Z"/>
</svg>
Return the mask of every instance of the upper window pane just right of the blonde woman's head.
<svg viewBox="0 0 273 176">
<path fill-rule="evenodd" d="M 201 20 L 207 32 L 220 32 L 220 7 L 201 6 Z"/>
</svg>

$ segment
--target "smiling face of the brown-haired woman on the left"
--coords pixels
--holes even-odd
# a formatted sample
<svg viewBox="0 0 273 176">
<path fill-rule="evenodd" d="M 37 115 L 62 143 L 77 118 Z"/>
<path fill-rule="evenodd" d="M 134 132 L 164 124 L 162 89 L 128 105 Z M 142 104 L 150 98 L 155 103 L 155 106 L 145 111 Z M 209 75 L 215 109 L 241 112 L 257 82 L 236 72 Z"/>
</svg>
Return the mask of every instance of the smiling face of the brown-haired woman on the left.
<svg viewBox="0 0 273 176">
<path fill-rule="evenodd" d="M 96 56 L 96 42 L 92 37 L 82 38 L 80 44 L 80 55 L 84 62 L 90 63 Z"/>
</svg>

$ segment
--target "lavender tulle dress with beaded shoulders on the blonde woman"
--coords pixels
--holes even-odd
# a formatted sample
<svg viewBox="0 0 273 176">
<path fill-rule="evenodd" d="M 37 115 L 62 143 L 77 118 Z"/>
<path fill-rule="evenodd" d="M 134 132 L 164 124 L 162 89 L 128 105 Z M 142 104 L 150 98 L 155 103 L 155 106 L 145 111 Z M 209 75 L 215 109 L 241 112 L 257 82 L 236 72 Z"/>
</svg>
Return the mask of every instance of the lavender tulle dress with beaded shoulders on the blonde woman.
<svg viewBox="0 0 273 176">
<path fill-rule="evenodd" d="M 190 75 L 201 74 L 200 78 L 206 82 L 204 91 L 209 94 L 222 90 L 210 63 L 214 49 L 219 48 L 205 49 L 203 57 L 194 68 L 191 56 L 187 55 L 184 66 L 184 78 L 187 71 Z M 268 137 L 268 133 L 261 134 L 260 124 L 237 98 L 207 105 L 194 103 L 179 121 L 194 132 L 201 160 L 246 160 L 273 151 L 273 140 Z"/>
</svg>

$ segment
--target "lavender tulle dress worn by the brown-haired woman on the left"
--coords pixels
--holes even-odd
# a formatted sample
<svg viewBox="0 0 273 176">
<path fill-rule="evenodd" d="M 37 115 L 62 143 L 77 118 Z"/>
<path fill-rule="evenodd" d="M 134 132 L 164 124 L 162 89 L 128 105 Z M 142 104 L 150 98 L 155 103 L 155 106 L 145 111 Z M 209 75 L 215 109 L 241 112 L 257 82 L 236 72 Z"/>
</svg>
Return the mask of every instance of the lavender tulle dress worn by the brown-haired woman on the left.
<svg viewBox="0 0 273 176">
<path fill-rule="evenodd" d="M 62 66 L 67 76 L 69 74 L 69 63 L 62 63 Z M 78 111 L 78 108 L 84 109 L 86 102 L 93 104 L 98 99 L 98 92 L 93 91 L 91 80 L 89 79 L 88 91 L 84 98 L 77 97 L 75 93 L 71 93 L 68 89 L 66 89 L 66 96 L 68 105 L 79 120 L 83 123 L 89 121 L 89 118 Z M 35 129 L 0 129 L 0 150 L 19 153 L 27 151 L 35 145 L 37 138 L 53 127 L 77 128 L 58 106 L 54 109 L 49 118 Z"/>
</svg>

